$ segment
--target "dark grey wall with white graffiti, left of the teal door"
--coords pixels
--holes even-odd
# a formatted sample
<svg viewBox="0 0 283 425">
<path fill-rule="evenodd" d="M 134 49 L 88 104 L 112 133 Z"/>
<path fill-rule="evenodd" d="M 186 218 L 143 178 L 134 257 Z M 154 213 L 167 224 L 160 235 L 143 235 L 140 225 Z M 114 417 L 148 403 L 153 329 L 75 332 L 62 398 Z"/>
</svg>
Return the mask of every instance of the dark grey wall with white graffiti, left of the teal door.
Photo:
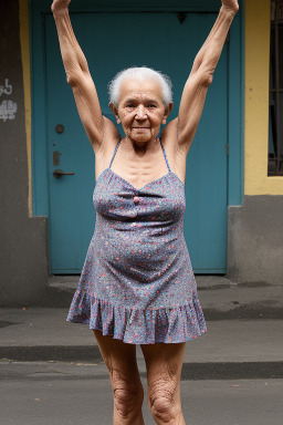
<svg viewBox="0 0 283 425">
<path fill-rule="evenodd" d="M 21 34 L 27 41 L 27 30 Z M 46 218 L 30 217 L 28 208 L 30 106 L 29 89 L 27 97 L 23 92 L 18 0 L 0 2 L 0 305 L 25 305 L 44 298 L 49 251 Z M 27 84 L 29 76 L 24 79 Z"/>
</svg>

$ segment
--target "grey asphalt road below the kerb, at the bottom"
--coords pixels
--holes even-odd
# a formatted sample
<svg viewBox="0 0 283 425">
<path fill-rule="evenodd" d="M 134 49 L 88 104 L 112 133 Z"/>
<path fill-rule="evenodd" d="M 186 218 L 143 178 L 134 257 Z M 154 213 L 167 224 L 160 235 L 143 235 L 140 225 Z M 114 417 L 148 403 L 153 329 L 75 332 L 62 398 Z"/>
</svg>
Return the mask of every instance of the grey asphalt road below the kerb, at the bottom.
<svg viewBox="0 0 283 425">
<path fill-rule="evenodd" d="M 2 365 L 1 425 L 111 425 L 113 397 L 102 364 L 6 363 Z M 143 415 L 156 424 L 147 406 Z M 181 385 L 188 425 L 282 425 L 283 380 L 187 381 Z"/>
</svg>

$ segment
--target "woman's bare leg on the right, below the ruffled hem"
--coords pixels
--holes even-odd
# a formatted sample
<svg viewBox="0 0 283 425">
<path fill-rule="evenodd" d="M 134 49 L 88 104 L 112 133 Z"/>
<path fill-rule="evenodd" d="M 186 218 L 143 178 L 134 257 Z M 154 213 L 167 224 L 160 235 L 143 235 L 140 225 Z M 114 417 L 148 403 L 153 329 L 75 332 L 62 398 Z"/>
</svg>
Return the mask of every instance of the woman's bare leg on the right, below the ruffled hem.
<svg viewBox="0 0 283 425">
<path fill-rule="evenodd" d="M 140 345 L 147 366 L 148 406 L 158 425 L 186 425 L 180 379 L 186 343 Z"/>
</svg>

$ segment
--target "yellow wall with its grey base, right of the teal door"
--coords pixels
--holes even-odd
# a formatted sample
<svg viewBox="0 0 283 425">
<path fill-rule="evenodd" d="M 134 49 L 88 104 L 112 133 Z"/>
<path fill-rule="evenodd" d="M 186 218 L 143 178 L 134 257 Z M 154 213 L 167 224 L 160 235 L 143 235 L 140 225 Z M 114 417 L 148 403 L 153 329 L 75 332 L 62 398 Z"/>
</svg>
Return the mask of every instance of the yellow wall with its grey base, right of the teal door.
<svg viewBox="0 0 283 425">
<path fill-rule="evenodd" d="M 228 277 L 283 284 L 283 177 L 268 177 L 270 6 L 245 1 L 245 196 L 229 207 Z"/>
</svg>

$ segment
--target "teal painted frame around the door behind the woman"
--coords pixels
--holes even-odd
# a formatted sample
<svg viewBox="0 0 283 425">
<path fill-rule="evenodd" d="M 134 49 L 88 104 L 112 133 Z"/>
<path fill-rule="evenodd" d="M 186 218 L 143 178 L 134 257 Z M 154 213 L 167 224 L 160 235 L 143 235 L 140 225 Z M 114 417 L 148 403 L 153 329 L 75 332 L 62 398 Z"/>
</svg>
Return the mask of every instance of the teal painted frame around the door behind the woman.
<svg viewBox="0 0 283 425">
<path fill-rule="evenodd" d="M 130 3 L 130 4 L 129 4 Z M 228 194 L 227 205 L 240 206 L 244 193 L 244 0 L 239 0 L 240 12 L 229 33 L 228 51 Z M 217 13 L 219 0 L 157 0 L 145 1 L 140 8 L 135 0 L 72 0 L 70 12 L 199 12 Z M 31 50 L 31 137 L 32 137 L 32 210 L 33 216 L 49 212 L 48 128 L 45 87 L 45 15 L 51 14 L 45 0 L 29 0 Z M 208 29 L 208 33 L 209 33 Z M 203 40 L 205 41 L 205 40 Z M 43 196 L 45 194 L 45 196 Z"/>
</svg>

